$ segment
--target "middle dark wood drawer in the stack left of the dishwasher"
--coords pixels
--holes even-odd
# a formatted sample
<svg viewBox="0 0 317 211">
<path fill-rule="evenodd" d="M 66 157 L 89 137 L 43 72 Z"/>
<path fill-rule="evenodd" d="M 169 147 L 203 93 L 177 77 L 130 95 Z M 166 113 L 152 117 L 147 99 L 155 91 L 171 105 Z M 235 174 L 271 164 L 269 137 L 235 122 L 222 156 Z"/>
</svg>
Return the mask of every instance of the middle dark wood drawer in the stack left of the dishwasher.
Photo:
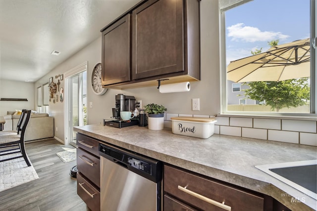
<svg viewBox="0 0 317 211">
<path fill-rule="evenodd" d="M 77 169 L 100 187 L 100 159 L 77 148 Z"/>
</svg>

